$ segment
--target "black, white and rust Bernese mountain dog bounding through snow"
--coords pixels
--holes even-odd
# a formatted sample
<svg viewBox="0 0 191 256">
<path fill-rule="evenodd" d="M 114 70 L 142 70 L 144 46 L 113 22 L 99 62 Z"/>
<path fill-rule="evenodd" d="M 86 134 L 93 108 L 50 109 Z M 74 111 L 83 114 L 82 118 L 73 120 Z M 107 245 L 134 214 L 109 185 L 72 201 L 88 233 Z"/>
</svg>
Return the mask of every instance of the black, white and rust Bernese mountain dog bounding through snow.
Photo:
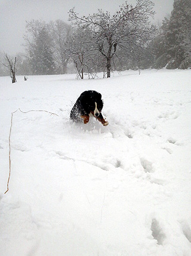
<svg viewBox="0 0 191 256">
<path fill-rule="evenodd" d="M 79 96 L 74 104 L 70 118 L 75 122 L 82 122 L 87 124 L 90 116 L 93 115 L 104 126 L 109 123 L 103 118 L 101 110 L 103 109 L 103 100 L 101 94 L 96 91 L 85 91 Z"/>
</svg>

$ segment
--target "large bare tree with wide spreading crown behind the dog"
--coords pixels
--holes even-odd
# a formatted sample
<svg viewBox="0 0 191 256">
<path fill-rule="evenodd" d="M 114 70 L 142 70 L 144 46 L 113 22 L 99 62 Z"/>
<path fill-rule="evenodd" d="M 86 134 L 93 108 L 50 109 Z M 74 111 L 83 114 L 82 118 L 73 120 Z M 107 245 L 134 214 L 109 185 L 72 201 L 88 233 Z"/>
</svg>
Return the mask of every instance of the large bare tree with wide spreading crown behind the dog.
<svg viewBox="0 0 191 256">
<path fill-rule="evenodd" d="M 97 50 L 106 60 L 107 77 L 110 77 L 111 61 L 118 47 L 140 45 L 140 41 L 146 43 L 152 38 L 155 26 L 150 25 L 149 16 L 155 14 L 153 5 L 150 0 L 137 0 L 135 7 L 125 2 L 113 16 L 108 11 L 98 10 L 96 14 L 79 17 L 74 8 L 69 11 L 73 25 L 88 28 L 93 34 Z"/>
</svg>

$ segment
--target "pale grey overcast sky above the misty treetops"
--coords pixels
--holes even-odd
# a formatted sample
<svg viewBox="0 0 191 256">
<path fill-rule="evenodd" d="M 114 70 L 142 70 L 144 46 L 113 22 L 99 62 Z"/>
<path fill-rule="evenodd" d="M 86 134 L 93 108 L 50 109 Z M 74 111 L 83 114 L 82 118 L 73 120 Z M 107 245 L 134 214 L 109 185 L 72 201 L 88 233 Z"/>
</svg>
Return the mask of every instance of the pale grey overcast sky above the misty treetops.
<svg viewBox="0 0 191 256">
<path fill-rule="evenodd" d="M 21 44 L 25 33 L 26 20 L 68 20 L 68 11 L 75 7 L 81 15 L 96 13 L 97 9 L 109 11 L 118 10 L 125 0 L 0 0 L 0 51 L 10 55 L 23 52 Z M 128 0 L 135 4 L 135 0 Z M 155 23 L 161 22 L 172 11 L 174 0 L 153 0 Z"/>
</svg>

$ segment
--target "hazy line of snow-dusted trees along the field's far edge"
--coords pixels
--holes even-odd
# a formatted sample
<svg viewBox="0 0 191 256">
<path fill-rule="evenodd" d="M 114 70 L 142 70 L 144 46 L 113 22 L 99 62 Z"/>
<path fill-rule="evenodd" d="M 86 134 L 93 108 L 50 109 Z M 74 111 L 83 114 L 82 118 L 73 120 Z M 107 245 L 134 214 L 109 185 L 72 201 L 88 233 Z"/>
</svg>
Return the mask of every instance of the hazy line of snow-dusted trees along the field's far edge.
<svg viewBox="0 0 191 256">
<path fill-rule="evenodd" d="M 76 72 L 82 79 L 84 74 L 94 78 L 97 72 L 109 77 L 114 70 L 190 68 L 190 0 L 175 0 L 171 14 L 158 28 L 150 23 L 152 7 L 151 1 L 138 0 L 135 7 L 126 2 L 113 16 L 98 10 L 85 17 L 70 10 L 70 24 L 27 21 L 25 53 L 13 56 L 17 57 L 16 74 Z M 1 62 L 5 54 L 0 53 Z M 10 75 L 3 65 L 0 75 Z"/>
</svg>

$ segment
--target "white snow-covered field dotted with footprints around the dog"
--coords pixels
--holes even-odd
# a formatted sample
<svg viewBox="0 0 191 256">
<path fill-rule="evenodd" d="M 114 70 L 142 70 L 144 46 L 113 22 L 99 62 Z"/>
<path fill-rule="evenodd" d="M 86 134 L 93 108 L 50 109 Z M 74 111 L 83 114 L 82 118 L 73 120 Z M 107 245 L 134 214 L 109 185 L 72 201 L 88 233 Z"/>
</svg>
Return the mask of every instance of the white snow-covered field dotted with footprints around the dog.
<svg viewBox="0 0 191 256">
<path fill-rule="evenodd" d="M 1 256 L 191 255 L 191 70 L 0 77 Z M 102 94 L 107 127 L 69 119 Z M 9 191 L 9 134 L 11 112 Z"/>
</svg>

